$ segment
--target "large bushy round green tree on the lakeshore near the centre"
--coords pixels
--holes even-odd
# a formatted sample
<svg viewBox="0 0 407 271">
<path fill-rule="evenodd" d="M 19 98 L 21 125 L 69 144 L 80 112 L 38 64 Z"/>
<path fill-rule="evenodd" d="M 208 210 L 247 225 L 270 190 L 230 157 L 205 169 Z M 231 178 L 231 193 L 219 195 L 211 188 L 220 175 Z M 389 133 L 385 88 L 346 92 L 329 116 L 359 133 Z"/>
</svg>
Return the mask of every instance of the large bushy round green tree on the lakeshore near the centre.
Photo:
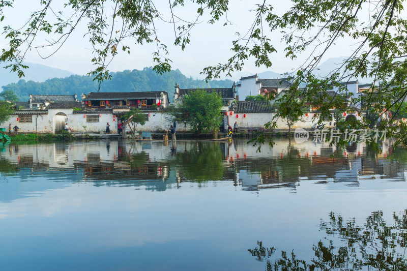
<svg viewBox="0 0 407 271">
<path fill-rule="evenodd" d="M 189 115 L 189 125 L 200 133 L 217 133 L 222 123 L 222 99 L 213 92 L 197 90 L 182 101 L 182 110 Z"/>
</svg>

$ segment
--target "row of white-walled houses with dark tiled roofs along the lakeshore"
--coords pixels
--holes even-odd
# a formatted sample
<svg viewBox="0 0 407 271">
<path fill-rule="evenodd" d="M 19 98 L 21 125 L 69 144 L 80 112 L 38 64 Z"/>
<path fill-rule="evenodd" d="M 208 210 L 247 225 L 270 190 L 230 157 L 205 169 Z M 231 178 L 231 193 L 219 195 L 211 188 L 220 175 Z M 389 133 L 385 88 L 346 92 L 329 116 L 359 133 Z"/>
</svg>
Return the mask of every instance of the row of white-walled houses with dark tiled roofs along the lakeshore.
<svg viewBox="0 0 407 271">
<path fill-rule="evenodd" d="M 289 78 L 261 79 L 257 75 L 242 77 L 230 88 L 203 88 L 208 93 L 216 92 L 222 98 L 223 123 L 220 129 L 233 126 L 235 122 L 241 129 L 258 130 L 273 119 L 276 114 L 268 101 L 244 101 L 247 96 L 281 93 L 290 87 Z M 347 82 L 346 87 L 356 95 L 365 85 L 357 81 Z M 198 88 L 181 88 L 175 85 L 176 103 Z M 201 88 L 200 88 L 201 89 Z M 331 92 L 335 93 L 335 89 Z M 12 126 L 17 125 L 20 132 L 56 133 L 66 123 L 75 132 L 104 132 L 106 124 L 110 130 L 117 132 L 121 117 L 131 109 L 140 109 L 146 114 L 146 125 L 138 127 L 139 131 L 162 131 L 169 126 L 166 108 L 170 104 L 166 91 L 155 92 L 90 92 L 82 94 L 80 101 L 74 95 L 30 95 L 30 100 L 17 102 L 19 108 L 10 119 Z M 315 123 L 316 111 L 310 109 L 300 122 L 292 128 L 311 128 Z M 358 107 L 344 112 L 346 118 L 360 119 L 362 114 Z M 332 118 L 324 119 L 327 127 L 333 127 Z M 277 122 L 278 129 L 287 129 L 283 119 Z M 188 128 L 187 128 L 188 129 Z"/>
</svg>

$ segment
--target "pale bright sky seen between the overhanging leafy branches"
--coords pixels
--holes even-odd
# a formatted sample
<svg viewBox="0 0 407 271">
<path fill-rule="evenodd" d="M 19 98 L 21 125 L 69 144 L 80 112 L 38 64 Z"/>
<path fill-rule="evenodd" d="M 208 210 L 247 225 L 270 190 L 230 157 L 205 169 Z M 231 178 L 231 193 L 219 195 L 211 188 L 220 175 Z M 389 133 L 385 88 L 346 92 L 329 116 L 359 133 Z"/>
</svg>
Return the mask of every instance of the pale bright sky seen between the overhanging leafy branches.
<svg viewBox="0 0 407 271">
<path fill-rule="evenodd" d="M 40 1 L 33 0 L 19 0 L 14 4 L 13 9 L 5 11 L 5 19 L 1 22 L 2 27 L 11 25 L 14 28 L 22 26 L 22 18 L 28 18 L 31 12 L 39 10 Z M 64 10 L 62 3 L 65 1 L 53 2 L 53 10 Z M 166 1 L 156 1 L 157 8 L 162 12 L 163 17 L 167 20 L 170 19 L 169 4 Z M 156 22 L 158 29 L 158 39 L 168 46 L 168 57 L 172 61 L 172 69 L 179 69 L 182 73 L 193 78 L 203 78 L 199 73 L 207 66 L 215 66 L 218 63 L 224 63 L 232 56 L 230 48 L 232 47 L 232 40 L 236 39 L 236 33 L 246 34 L 250 25 L 252 24 L 255 12 L 254 1 L 249 0 L 230 0 L 229 12 L 227 13 L 227 20 L 229 24 L 223 26 L 225 17 L 214 25 L 208 24 L 208 16 L 204 16 L 200 23 L 198 23 L 191 32 L 191 43 L 187 45 L 185 50 L 180 47 L 173 46 L 175 34 L 173 26 L 163 21 Z M 274 11 L 281 14 L 290 7 L 289 1 L 268 1 L 268 4 L 273 5 Z M 58 6 L 59 5 L 59 6 Z M 110 4 L 111 6 L 111 4 Z M 109 4 L 106 4 L 109 7 Z M 173 12 L 180 18 L 192 20 L 195 17 L 197 6 L 186 1 L 186 6 L 174 9 Z M 68 10 L 69 11 L 69 10 Z M 67 12 L 67 10 L 65 10 Z M 68 13 L 65 13 L 68 14 Z M 68 70 L 76 74 L 86 74 L 92 71 L 95 67 L 91 63 L 92 48 L 88 42 L 88 38 L 84 36 L 87 33 L 85 21 L 81 21 L 76 31 L 71 35 L 68 41 L 57 52 L 50 57 L 43 59 L 43 56 L 49 54 L 51 51 L 36 50 L 28 51 L 26 54 L 26 62 L 37 63 L 53 68 Z M 3 35 L 4 37 L 4 35 Z M 272 67 L 255 67 L 254 59 L 246 61 L 243 72 L 236 72 L 233 74 L 234 78 L 240 76 L 247 76 L 264 71 L 274 71 L 276 73 L 284 73 L 292 70 L 293 68 L 301 65 L 306 54 L 300 55 L 295 61 L 290 61 L 284 57 L 283 51 L 284 44 L 280 42 L 282 35 L 280 33 L 272 33 L 269 36 L 273 45 L 277 49 L 277 53 L 272 54 L 271 59 L 273 62 Z M 51 37 L 39 36 L 37 45 L 44 44 L 44 39 Z M 344 40 L 343 45 L 348 44 Z M 1 39 L 0 45 L 5 45 L 5 39 Z M 154 66 L 153 55 L 155 44 L 134 45 L 134 41 L 127 41 L 126 45 L 131 48 L 131 54 L 120 51 L 117 56 L 109 65 L 110 71 L 123 71 L 123 70 L 141 70 L 144 67 Z M 326 57 L 339 57 L 348 55 L 350 50 L 348 46 L 339 46 Z M 54 49 L 52 49 L 52 52 Z M 323 59 L 324 60 L 324 59 Z M 221 79 L 225 79 L 222 76 Z M 230 78 L 230 77 L 228 77 Z"/>
</svg>

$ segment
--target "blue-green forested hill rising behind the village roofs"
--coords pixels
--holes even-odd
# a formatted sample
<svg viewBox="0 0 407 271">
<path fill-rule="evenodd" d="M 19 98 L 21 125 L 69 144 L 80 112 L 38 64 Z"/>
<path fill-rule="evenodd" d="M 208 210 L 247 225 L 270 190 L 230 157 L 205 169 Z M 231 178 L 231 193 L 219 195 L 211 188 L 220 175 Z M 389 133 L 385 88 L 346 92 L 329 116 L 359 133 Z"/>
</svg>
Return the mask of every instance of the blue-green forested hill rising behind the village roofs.
<svg viewBox="0 0 407 271">
<path fill-rule="evenodd" d="M 102 82 L 101 92 L 166 91 L 171 102 L 174 97 L 175 83 L 181 88 L 231 87 L 233 85 L 231 80 L 212 80 L 206 83 L 202 80 L 186 77 L 179 70 L 159 75 L 152 68 L 144 68 L 142 71 L 126 70 L 111 73 L 111 75 L 111 80 Z M 2 88 L 4 91 L 12 90 L 20 101 L 27 101 L 30 93 L 42 95 L 72 95 L 76 93 L 80 99 L 82 93 L 97 91 L 98 83 L 92 79 L 92 77 L 84 75 L 71 75 L 66 78 L 48 79 L 44 82 L 20 80 L 17 83 L 2 86 Z"/>
</svg>

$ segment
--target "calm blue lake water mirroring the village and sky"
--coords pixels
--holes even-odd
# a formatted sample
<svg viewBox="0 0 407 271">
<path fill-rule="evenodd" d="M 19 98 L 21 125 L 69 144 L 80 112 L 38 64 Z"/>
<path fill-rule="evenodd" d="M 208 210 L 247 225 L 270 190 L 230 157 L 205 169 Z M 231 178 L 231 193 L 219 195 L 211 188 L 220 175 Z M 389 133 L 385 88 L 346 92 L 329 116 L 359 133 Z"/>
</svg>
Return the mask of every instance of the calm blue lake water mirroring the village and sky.
<svg viewBox="0 0 407 271">
<path fill-rule="evenodd" d="M 338 251 L 331 212 L 363 227 L 407 208 L 407 152 L 389 142 L 275 142 L 0 143 L 0 268 L 264 270 L 319 240 Z"/>
</svg>

